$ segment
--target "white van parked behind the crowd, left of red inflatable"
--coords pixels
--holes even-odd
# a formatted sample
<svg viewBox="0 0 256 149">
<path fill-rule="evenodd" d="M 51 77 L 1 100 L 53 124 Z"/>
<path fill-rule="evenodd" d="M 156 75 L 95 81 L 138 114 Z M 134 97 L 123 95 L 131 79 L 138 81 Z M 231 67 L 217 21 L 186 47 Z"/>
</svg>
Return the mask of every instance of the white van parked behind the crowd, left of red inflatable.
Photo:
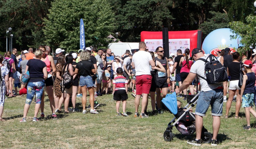
<svg viewBox="0 0 256 149">
<path fill-rule="evenodd" d="M 139 50 L 139 42 L 114 42 L 108 44 L 108 48 L 115 56 L 122 56 L 126 50 L 130 50 L 133 53 L 134 50 Z"/>
</svg>

